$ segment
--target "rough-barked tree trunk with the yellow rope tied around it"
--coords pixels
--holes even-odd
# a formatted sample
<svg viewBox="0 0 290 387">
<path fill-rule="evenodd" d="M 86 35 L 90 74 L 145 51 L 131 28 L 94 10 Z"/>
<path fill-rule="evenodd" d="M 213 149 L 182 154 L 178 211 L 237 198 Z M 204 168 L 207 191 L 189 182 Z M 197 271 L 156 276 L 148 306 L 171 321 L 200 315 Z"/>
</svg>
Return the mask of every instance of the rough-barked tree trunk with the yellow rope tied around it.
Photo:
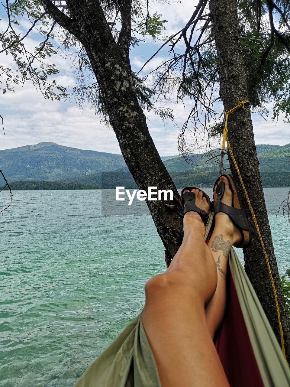
<svg viewBox="0 0 290 387">
<path fill-rule="evenodd" d="M 213 15 L 213 34 L 218 53 L 218 74 L 220 80 L 220 97 L 225 111 L 229 111 L 242 100 L 247 101 L 247 81 L 240 42 L 239 21 L 237 17 L 236 0 L 210 0 L 210 12 Z M 252 207 L 257 217 L 258 225 L 263 237 L 264 245 L 270 261 L 271 271 L 275 281 L 281 322 L 284 331 L 285 350 L 290 360 L 290 326 L 285 307 L 285 299 L 281 290 L 281 283 L 276 263 L 271 229 L 269 225 L 259 161 L 254 143 L 254 133 L 249 104 L 244 110 L 239 109 L 229 116 L 228 137 L 233 154 L 241 171 Z M 242 197 L 242 204 L 249 219 L 252 231 L 252 243 L 244 249 L 246 273 L 254 287 L 263 309 L 270 321 L 277 339 L 280 342 L 278 316 L 270 282 L 266 260 L 261 247 L 258 233 L 247 205 L 246 197 L 235 166 L 229 156 L 230 170 L 237 183 L 237 189 Z"/>
</svg>

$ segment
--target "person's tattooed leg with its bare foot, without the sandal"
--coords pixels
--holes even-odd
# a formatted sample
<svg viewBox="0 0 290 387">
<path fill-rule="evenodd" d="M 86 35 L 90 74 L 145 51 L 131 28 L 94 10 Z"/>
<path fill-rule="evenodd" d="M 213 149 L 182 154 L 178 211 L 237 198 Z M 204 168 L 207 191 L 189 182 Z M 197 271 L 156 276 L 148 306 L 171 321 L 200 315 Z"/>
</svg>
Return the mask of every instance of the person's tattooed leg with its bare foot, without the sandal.
<svg viewBox="0 0 290 387">
<path fill-rule="evenodd" d="M 223 194 L 222 202 L 231 206 L 233 195 L 229 187 L 229 181 L 224 177 L 221 177 L 220 181 L 225 183 L 225 193 Z M 215 186 L 215 188 L 216 187 L 217 186 Z M 215 192 L 213 198 L 214 204 L 216 204 L 217 194 Z M 218 274 L 215 294 L 206 306 L 206 324 L 212 338 L 214 337 L 215 331 L 220 326 L 225 312 L 225 305 L 227 302 L 226 276 L 230 249 L 232 245 L 239 242 L 241 238 L 241 232 L 234 226 L 230 217 L 223 212 L 218 212 L 215 215 L 215 227 L 212 236 L 208 241 L 208 247 L 215 260 Z"/>
</svg>

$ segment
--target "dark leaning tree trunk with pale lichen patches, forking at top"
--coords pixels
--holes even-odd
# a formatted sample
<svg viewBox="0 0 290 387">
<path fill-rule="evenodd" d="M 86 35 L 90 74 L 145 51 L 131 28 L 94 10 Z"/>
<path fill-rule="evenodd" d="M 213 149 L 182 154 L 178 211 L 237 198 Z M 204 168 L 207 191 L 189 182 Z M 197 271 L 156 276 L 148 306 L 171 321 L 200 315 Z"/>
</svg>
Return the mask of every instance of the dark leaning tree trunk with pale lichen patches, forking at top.
<svg viewBox="0 0 290 387">
<path fill-rule="evenodd" d="M 170 264 L 183 238 L 181 199 L 149 134 L 146 118 L 136 97 L 129 60 L 131 0 L 120 1 L 122 17 L 118 42 L 114 41 L 98 1 L 67 0 L 71 17 L 51 0 L 41 1 L 46 12 L 84 46 L 102 100 L 125 162 L 140 189 L 171 189 L 173 202 L 147 201 Z"/>
</svg>

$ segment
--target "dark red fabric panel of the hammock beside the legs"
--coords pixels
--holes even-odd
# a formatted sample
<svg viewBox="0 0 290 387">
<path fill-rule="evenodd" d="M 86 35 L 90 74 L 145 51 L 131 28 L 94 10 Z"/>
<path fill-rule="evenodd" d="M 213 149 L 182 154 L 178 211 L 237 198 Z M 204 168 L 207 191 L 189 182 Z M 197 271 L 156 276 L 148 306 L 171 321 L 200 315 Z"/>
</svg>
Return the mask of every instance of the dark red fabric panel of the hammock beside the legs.
<svg viewBox="0 0 290 387">
<path fill-rule="evenodd" d="M 264 387 L 228 267 L 227 308 L 215 347 L 231 387 Z"/>
</svg>

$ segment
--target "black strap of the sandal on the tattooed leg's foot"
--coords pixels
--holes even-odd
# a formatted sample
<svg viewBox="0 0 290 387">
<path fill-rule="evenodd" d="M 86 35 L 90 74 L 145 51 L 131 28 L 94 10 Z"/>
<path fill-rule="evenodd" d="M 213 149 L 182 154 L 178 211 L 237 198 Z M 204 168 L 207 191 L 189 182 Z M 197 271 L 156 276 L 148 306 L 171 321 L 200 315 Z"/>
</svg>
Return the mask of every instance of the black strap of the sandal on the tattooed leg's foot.
<svg viewBox="0 0 290 387">
<path fill-rule="evenodd" d="M 218 197 L 217 203 L 215 205 L 215 214 L 217 214 L 217 212 L 224 212 L 225 214 L 229 215 L 229 217 L 232 219 L 236 226 L 248 231 L 249 226 L 244 211 L 242 209 L 224 204 L 221 201 L 225 192 L 225 183 L 220 182 L 215 192 Z"/>
</svg>

